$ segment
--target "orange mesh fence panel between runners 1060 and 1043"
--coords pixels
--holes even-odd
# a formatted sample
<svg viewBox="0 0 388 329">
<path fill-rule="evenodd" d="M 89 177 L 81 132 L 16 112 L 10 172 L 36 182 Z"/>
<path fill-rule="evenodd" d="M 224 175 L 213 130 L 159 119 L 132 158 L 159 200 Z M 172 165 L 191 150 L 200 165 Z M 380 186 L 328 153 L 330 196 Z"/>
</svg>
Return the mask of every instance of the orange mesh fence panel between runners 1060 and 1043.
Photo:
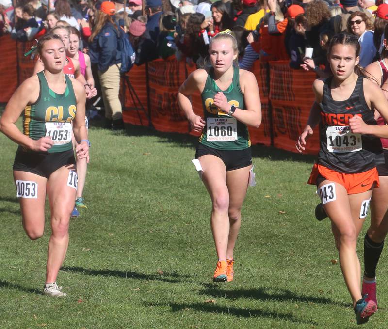
<svg viewBox="0 0 388 329">
<path fill-rule="evenodd" d="M 270 62 L 270 100 L 274 129 L 274 146 L 296 152 L 295 142 L 307 124 L 315 97 L 312 83 L 315 73 L 291 70 L 288 61 Z M 307 154 L 319 150 L 318 127 L 307 142 Z"/>
</svg>

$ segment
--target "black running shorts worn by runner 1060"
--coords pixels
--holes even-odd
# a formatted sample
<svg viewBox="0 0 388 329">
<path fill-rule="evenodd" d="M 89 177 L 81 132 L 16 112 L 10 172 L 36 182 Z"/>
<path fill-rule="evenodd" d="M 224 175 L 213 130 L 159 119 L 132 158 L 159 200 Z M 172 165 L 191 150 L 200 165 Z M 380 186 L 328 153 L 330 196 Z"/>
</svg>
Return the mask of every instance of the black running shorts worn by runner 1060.
<svg viewBox="0 0 388 329">
<path fill-rule="evenodd" d="M 195 158 L 197 159 L 207 154 L 219 157 L 224 162 L 227 172 L 252 164 L 252 151 L 250 147 L 244 150 L 217 150 L 198 143 Z"/>
</svg>

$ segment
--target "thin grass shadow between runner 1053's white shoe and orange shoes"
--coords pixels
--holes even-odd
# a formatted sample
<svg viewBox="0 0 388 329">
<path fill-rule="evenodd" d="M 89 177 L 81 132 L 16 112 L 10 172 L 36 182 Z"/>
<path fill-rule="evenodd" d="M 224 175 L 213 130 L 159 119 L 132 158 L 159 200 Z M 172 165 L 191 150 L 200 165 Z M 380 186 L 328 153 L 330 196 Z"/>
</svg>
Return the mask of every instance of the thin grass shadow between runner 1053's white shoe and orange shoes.
<svg viewBox="0 0 388 329">
<path fill-rule="evenodd" d="M 87 269 L 82 267 L 62 267 L 62 271 L 65 272 L 77 272 L 81 274 L 86 275 L 101 275 L 101 276 L 111 276 L 111 277 L 118 277 L 118 278 L 124 278 L 124 279 L 139 279 L 139 280 L 158 280 L 158 281 L 164 281 L 164 282 L 170 282 L 170 283 L 180 283 L 185 280 L 186 278 L 191 278 L 189 275 L 182 275 L 178 274 L 176 272 L 161 272 L 155 273 L 155 274 L 146 274 L 146 273 L 138 273 L 138 272 L 126 272 L 126 271 L 117 271 L 117 270 L 110 270 L 110 269 L 102 269 L 102 270 L 96 270 L 96 269 Z"/>
</svg>

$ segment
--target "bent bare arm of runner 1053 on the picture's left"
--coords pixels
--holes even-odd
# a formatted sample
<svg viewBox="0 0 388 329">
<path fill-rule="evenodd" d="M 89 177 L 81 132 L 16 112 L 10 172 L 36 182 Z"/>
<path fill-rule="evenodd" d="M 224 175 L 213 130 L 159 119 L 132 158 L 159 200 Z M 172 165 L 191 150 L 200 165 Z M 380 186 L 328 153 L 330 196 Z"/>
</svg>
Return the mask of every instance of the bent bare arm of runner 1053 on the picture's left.
<svg viewBox="0 0 388 329">
<path fill-rule="evenodd" d="M 26 79 L 15 91 L 0 119 L 0 130 L 9 139 L 32 151 L 47 151 L 53 144 L 50 137 L 33 140 L 24 135 L 15 125 L 24 108 L 39 97 L 39 80 L 36 75 Z"/>
</svg>

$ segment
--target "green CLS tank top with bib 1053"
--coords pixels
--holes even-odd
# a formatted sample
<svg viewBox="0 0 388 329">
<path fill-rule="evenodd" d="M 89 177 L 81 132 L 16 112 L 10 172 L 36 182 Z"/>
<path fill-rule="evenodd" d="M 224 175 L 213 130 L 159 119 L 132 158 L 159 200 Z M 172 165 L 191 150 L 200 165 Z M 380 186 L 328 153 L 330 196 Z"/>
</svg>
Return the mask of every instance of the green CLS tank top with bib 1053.
<svg viewBox="0 0 388 329">
<path fill-rule="evenodd" d="M 77 111 L 73 84 L 65 74 L 65 92 L 57 94 L 49 88 L 43 71 L 37 75 L 39 78 L 39 97 L 34 104 L 28 105 L 24 109 L 23 133 L 33 140 L 50 136 L 54 145 L 48 150 L 49 153 L 70 150 L 73 147 L 71 121 Z"/>
</svg>

